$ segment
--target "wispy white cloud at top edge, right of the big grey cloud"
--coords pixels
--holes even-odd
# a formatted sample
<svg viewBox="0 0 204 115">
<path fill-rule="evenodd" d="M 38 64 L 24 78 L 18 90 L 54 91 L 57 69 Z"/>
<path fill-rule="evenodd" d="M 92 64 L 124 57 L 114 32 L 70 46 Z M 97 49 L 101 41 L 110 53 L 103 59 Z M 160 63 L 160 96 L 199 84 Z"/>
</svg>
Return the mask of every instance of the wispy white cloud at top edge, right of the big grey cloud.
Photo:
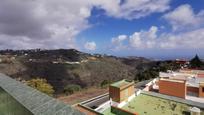
<svg viewBox="0 0 204 115">
<path fill-rule="evenodd" d="M 164 12 L 169 9 L 170 0 L 102 0 L 99 5 L 107 15 L 116 18 L 138 19 L 151 13 Z"/>
</svg>

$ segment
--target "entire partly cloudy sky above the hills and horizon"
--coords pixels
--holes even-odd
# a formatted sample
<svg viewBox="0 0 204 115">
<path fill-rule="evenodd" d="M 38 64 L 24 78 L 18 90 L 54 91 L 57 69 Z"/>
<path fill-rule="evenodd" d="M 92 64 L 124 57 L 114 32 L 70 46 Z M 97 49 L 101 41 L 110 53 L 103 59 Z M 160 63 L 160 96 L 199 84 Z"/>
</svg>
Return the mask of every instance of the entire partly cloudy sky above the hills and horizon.
<svg viewBox="0 0 204 115">
<path fill-rule="evenodd" d="M 204 58 L 204 0 L 0 0 L 0 49 Z"/>
</svg>

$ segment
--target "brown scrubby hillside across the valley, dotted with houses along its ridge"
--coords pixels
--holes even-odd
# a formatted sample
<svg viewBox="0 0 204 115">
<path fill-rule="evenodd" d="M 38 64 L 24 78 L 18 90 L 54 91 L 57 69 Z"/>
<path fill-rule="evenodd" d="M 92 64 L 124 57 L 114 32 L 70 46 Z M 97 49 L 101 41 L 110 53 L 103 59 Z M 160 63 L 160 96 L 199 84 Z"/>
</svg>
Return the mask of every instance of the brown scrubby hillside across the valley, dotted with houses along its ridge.
<svg viewBox="0 0 204 115">
<path fill-rule="evenodd" d="M 67 84 L 86 88 L 100 86 L 104 80 L 135 79 L 139 71 L 155 64 L 141 57 L 91 55 L 74 49 L 4 50 L 0 54 L 1 73 L 18 80 L 45 78 L 57 94 Z"/>
</svg>

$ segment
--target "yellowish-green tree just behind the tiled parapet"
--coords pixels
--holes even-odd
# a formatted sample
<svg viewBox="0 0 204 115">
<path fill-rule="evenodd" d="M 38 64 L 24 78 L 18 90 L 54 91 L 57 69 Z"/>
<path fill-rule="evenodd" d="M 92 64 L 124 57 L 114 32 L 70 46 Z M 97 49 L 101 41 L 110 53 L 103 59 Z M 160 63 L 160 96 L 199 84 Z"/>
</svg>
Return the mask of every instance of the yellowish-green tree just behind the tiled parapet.
<svg viewBox="0 0 204 115">
<path fill-rule="evenodd" d="M 52 96 L 54 93 L 53 87 L 49 83 L 47 83 L 46 79 L 31 79 L 29 81 L 26 81 L 26 84 L 50 96 Z"/>
</svg>

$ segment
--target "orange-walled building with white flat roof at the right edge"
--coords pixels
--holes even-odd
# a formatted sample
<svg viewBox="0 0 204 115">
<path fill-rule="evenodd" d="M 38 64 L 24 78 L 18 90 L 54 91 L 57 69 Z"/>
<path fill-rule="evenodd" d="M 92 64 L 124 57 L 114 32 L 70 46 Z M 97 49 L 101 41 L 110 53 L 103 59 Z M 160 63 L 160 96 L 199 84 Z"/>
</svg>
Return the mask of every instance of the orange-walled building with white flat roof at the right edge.
<svg viewBox="0 0 204 115">
<path fill-rule="evenodd" d="M 185 69 L 179 72 L 160 72 L 159 93 L 185 99 L 204 98 L 204 71 Z"/>
</svg>

